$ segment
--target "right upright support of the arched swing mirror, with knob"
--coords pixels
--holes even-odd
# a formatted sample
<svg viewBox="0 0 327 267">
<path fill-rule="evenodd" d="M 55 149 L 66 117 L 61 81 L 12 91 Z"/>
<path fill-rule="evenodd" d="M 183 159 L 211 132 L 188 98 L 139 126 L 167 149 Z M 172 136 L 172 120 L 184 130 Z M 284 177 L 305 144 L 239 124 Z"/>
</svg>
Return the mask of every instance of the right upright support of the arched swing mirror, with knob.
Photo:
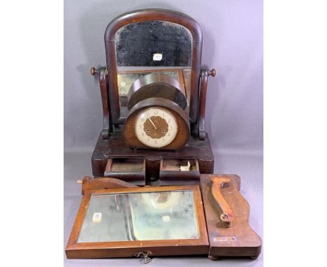
<svg viewBox="0 0 327 267">
<path fill-rule="evenodd" d="M 201 88 L 200 88 L 200 99 L 199 99 L 199 107 L 198 107 L 198 138 L 199 140 L 205 140 L 205 128 L 204 128 L 204 120 L 205 120 L 205 101 L 207 99 L 207 86 L 208 86 L 208 76 L 212 75 L 215 77 L 216 70 L 212 68 L 210 71 L 208 68 L 201 69 Z"/>
</svg>

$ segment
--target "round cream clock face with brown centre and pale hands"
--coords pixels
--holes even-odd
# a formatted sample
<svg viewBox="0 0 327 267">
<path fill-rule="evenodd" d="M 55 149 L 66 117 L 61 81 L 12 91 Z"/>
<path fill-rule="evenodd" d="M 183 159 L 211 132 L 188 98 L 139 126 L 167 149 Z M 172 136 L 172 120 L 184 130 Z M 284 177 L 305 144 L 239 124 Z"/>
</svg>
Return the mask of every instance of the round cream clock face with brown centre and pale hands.
<svg viewBox="0 0 327 267">
<path fill-rule="evenodd" d="M 164 147 L 176 137 L 175 117 L 163 108 L 143 110 L 136 119 L 135 132 L 138 140 L 148 147 Z"/>
</svg>

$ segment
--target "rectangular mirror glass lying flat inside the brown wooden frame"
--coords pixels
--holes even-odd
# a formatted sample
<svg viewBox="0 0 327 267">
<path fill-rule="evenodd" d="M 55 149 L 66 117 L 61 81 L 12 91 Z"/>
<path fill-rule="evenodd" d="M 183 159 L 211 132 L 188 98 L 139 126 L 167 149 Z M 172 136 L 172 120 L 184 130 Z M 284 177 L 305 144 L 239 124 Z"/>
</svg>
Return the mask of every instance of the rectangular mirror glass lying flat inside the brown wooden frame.
<svg viewBox="0 0 327 267">
<path fill-rule="evenodd" d="M 198 239 L 191 190 L 92 194 L 78 243 Z"/>
</svg>

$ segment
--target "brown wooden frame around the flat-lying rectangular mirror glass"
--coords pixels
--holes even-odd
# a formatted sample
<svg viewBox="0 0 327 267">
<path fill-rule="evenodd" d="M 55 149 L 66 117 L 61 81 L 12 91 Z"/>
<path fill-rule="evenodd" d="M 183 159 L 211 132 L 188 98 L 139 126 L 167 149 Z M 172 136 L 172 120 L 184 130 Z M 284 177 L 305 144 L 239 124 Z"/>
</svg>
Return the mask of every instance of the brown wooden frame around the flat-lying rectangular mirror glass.
<svg viewBox="0 0 327 267">
<path fill-rule="evenodd" d="M 123 194 L 133 192 L 165 192 L 170 190 L 192 190 L 194 196 L 194 208 L 198 222 L 198 239 L 177 240 L 133 240 L 119 242 L 77 243 L 82 223 L 87 212 L 89 200 L 92 194 Z M 170 256 L 187 254 L 207 254 L 209 248 L 208 233 L 205 227 L 205 216 L 201 201 L 201 192 L 198 186 L 175 186 L 175 187 L 137 187 L 119 189 L 87 190 L 82 199 L 78 215 L 76 216 L 71 236 L 66 246 L 68 259 L 89 258 L 118 258 L 133 257 L 134 254 L 143 251 L 151 252 L 152 256 Z"/>
</svg>

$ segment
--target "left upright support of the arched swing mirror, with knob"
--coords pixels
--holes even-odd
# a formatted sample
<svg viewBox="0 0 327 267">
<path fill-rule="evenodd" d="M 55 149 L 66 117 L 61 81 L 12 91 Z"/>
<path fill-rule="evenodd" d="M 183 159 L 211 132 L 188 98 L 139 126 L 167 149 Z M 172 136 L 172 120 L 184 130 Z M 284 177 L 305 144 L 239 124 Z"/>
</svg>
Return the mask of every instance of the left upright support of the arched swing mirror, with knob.
<svg viewBox="0 0 327 267">
<path fill-rule="evenodd" d="M 108 99 L 107 68 L 100 67 L 96 69 L 92 67 L 91 75 L 99 76 L 99 84 L 100 84 L 102 108 L 103 108 L 103 130 L 101 134 L 103 139 L 108 139 L 110 133 L 112 132 L 112 124 L 111 124 L 110 113 L 109 113 L 110 106 L 109 106 L 109 99 Z"/>
</svg>

